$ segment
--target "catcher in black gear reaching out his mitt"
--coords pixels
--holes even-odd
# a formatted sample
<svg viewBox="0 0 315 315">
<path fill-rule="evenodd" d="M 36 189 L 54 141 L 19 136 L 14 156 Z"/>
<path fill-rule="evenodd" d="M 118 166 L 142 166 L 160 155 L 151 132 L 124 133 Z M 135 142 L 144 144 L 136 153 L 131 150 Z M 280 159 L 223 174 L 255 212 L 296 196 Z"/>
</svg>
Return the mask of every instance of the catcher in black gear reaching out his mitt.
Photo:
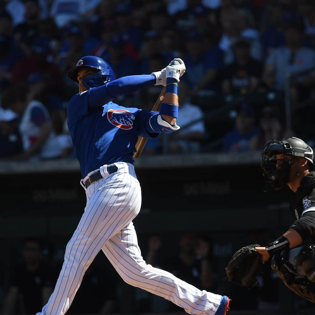
<svg viewBox="0 0 315 315">
<path fill-rule="evenodd" d="M 261 247 L 241 248 L 226 267 L 228 280 L 252 287 L 262 264 L 272 258 L 271 267 L 297 295 L 315 302 L 315 165 L 313 150 L 292 137 L 267 142 L 261 153 L 267 190 L 289 186 L 291 211 L 296 218 L 277 240 Z M 300 246 L 311 239 L 312 244 Z"/>
</svg>

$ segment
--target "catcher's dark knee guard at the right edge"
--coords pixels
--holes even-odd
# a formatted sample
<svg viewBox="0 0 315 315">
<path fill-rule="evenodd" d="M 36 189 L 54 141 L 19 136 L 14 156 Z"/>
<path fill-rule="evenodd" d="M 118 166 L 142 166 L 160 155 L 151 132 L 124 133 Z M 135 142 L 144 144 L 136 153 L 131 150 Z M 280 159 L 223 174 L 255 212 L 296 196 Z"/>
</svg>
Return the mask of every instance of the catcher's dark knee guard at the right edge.
<svg viewBox="0 0 315 315">
<path fill-rule="evenodd" d="M 301 273 L 307 279 L 315 282 L 315 245 L 303 246 L 294 257 L 295 269 L 301 268 Z"/>
</svg>

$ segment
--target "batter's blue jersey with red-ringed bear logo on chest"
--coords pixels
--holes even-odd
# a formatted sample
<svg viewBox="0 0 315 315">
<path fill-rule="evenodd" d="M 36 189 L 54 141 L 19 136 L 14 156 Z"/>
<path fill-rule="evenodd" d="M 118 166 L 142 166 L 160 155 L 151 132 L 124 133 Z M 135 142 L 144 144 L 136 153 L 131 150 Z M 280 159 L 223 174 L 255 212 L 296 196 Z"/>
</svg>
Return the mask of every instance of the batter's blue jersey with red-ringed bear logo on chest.
<svg viewBox="0 0 315 315">
<path fill-rule="evenodd" d="M 74 95 L 67 108 L 68 128 L 83 178 L 105 164 L 133 163 L 138 136 L 158 135 L 145 127 L 158 112 L 125 108 L 112 101 L 91 110 L 89 94 L 94 89 Z"/>
</svg>

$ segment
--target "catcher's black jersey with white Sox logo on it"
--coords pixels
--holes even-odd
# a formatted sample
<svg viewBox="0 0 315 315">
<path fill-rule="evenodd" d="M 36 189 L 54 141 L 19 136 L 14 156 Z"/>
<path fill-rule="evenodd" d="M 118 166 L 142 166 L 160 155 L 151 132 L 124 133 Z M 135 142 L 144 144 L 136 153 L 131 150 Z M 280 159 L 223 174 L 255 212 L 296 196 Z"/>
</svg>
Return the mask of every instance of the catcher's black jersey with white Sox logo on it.
<svg viewBox="0 0 315 315">
<path fill-rule="evenodd" d="M 311 227 L 312 239 L 315 242 L 315 172 L 310 172 L 301 180 L 296 192 L 290 191 L 291 211 L 296 221 Z M 294 226 L 293 224 L 291 228 L 295 229 Z"/>
</svg>

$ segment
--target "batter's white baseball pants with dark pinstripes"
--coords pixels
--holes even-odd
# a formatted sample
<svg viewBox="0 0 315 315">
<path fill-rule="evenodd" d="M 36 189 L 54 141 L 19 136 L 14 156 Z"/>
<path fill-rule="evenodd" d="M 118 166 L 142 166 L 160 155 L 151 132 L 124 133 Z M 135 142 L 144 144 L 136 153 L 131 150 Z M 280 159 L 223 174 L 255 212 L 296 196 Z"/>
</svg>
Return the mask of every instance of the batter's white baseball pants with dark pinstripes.
<svg viewBox="0 0 315 315">
<path fill-rule="evenodd" d="M 200 291 L 143 260 L 132 223 L 140 211 L 140 184 L 132 164 L 115 165 L 118 171 L 113 174 L 108 174 L 106 166 L 102 166 L 103 178 L 87 188 L 85 211 L 66 246 L 54 292 L 37 314 L 66 313 L 85 271 L 100 250 L 126 283 L 162 296 L 189 314 L 214 314 L 221 295 Z"/>
</svg>

